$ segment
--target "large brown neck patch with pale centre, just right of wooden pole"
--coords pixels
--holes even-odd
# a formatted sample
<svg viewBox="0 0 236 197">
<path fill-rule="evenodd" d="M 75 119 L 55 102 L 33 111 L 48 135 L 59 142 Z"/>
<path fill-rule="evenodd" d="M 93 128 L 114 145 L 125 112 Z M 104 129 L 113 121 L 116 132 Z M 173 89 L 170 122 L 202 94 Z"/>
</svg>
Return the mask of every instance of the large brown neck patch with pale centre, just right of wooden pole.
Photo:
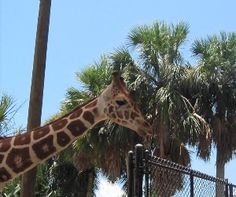
<svg viewBox="0 0 236 197">
<path fill-rule="evenodd" d="M 47 147 L 47 149 L 45 149 L 45 147 Z M 45 159 L 56 152 L 56 148 L 53 146 L 52 135 L 49 135 L 45 139 L 33 144 L 32 148 L 39 159 Z"/>
</svg>

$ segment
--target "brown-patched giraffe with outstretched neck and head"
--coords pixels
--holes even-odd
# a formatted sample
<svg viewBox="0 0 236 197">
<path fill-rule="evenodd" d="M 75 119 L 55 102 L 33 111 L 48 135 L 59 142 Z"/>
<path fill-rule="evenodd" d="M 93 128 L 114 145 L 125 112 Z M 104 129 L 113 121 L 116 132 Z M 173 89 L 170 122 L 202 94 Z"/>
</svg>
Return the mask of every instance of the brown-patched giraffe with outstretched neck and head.
<svg viewBox="0 0 236 197">
<path fill-rule="evenodd" d="M 100 96 L 33 131 L 0 138 L 0 188 L 64 150 L 104 120 L 130 128 L 140 136 L 152 133 L 150 124 L 132 100 L 123 78 L 119 73 L 113 73 L 111 84 Z"/>
</svg>

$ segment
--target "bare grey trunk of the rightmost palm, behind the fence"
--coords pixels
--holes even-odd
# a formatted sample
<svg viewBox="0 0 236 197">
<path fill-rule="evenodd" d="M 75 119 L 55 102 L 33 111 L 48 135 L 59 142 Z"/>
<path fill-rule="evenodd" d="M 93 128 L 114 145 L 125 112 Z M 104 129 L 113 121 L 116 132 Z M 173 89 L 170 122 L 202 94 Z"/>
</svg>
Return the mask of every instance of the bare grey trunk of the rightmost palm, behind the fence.
<svg viewBox="0 0 236 197">
<path fill-rule="evenodd" d="M 225 178 L 225 162 L 221 161 L 220 155 L 222 154 L 221 149 L 217 146 L 216 149 L 216 177 L 220 179 Z M 216 184 L 216 197 L 224 196 L 224 185 Z"/>
</svg>

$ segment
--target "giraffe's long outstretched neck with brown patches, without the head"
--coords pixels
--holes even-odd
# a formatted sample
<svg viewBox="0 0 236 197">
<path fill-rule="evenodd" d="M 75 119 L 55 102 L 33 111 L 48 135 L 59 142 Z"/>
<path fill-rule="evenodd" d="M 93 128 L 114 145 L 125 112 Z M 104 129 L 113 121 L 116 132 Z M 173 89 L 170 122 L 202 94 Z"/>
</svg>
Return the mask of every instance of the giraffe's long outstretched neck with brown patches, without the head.
<svg viewBox="0 0 236 197">
<path fill-rule="evenodd" d="M 96 123 L 105 120 L 102 105 L 98 97 L 43 127 L 0 139 L 0 188 L 62 151 Z"/>
</svg>

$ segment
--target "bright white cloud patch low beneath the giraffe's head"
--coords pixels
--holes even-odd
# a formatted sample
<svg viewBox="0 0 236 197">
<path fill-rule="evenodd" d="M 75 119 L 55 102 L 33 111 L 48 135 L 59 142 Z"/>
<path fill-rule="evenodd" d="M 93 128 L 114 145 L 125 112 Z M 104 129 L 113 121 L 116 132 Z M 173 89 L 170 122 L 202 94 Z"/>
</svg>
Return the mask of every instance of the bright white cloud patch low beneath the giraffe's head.
<svg viewBox="0 0 236 197">
<path fill-rule="evenodd" d="M 106 179 L 100 179 L 98 190 L 96 191 L 97 197 L 122 197 L 124 194 L 119 184 L 113 184 Z"/>
</svg>

